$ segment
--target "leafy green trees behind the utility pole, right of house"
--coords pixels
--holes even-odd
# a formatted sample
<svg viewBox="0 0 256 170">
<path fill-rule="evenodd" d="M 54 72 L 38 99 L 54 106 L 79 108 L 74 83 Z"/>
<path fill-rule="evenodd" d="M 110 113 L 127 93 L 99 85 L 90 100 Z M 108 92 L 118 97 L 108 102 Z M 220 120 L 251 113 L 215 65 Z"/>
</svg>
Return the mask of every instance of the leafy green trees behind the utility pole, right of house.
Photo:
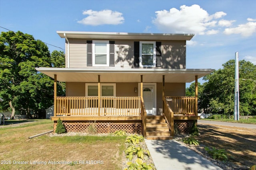
<svg viewBox="0 0 256 170">
<path fill-rule="evenodd" d="M 202 105 L 206 113 L 232 115 L 234 113 L 235 61 L 230 60 L 223 69 L 204 77 Z M 243 80 L 247 79 L 247 80 Z M 240 114 L 256 115 L 256 66 L 239 61 Z"/>
</svg>

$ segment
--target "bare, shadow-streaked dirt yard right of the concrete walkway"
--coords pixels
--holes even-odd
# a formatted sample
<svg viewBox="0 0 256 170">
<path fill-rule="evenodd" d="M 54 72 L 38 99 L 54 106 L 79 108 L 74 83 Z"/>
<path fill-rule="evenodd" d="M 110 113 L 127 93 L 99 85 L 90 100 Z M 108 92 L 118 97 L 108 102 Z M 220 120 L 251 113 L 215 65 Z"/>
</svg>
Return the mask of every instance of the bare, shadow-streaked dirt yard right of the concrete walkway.
<svg viewBox="0 0 256 170">
<path fill-rule="evenodd" d="M 256 164 L 256 129 L 199 124 L 198 130 L 200 144 L 225 149 L 229 163 L 242 167 Z"/>
</svg>

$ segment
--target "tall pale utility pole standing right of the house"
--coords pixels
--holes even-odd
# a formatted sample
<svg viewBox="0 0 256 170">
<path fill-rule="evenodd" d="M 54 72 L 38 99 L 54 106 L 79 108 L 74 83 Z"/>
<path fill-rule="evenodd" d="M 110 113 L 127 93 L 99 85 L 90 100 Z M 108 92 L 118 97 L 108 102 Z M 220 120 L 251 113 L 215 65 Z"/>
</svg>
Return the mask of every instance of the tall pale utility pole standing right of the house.
<svg viewBox="0 0 256 170">
<path fill-rule="evenodd" d="M 239 120 L 239 54 L 235 53 L 235 104 L 234 104 L 234 120 Z"/>
</svg>

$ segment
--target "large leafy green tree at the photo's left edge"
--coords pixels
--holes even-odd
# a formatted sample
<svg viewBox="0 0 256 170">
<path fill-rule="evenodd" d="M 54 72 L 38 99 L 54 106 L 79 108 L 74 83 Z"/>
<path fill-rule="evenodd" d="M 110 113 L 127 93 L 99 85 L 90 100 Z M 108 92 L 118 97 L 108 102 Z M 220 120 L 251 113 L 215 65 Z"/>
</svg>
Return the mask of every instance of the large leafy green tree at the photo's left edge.
<svg viewBox="0 0 256 170">
<path fill-rule="evenodd" d="M 20 31 L 0 35 L 0 96 L 12 108 L 40 109 L 49 105 L 52 80 L 35 67 L 50 67 L 48 47 L 32 35 Z"/>
</svg>

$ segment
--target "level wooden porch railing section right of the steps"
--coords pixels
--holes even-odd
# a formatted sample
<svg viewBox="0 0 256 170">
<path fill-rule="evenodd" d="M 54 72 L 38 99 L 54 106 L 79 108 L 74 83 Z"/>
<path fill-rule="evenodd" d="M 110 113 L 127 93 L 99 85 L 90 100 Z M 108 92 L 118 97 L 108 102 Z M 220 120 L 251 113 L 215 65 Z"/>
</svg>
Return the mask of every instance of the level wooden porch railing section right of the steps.
<svg viewBox="0 0 256 170">
<path fill-rule="evenodd" d="M 196 97 L 166 97 L 174 114 L 196 115 Z"/>
</svg>

